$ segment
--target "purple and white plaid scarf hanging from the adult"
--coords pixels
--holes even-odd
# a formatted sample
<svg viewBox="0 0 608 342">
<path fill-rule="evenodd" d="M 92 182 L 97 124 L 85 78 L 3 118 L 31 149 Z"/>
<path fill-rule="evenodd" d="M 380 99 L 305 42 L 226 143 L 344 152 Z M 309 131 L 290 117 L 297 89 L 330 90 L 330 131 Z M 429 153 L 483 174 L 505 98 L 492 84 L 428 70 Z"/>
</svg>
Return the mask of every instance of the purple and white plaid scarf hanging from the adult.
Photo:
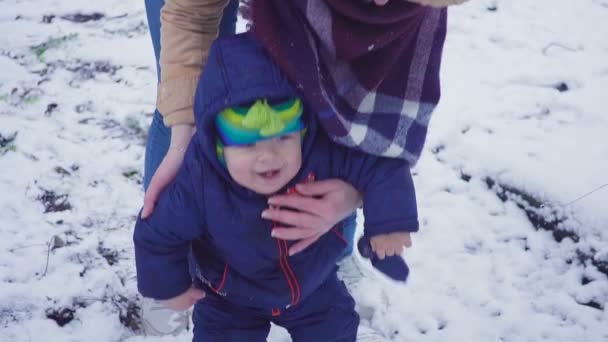
<svg viewBox="0 0 608 342">
<path fill-rule="evenodd" d="M 445 8 L 363 0 L 251 6 L 256 38 L 332 140 L 416 163 L 440 97 Z"/>
</svg>

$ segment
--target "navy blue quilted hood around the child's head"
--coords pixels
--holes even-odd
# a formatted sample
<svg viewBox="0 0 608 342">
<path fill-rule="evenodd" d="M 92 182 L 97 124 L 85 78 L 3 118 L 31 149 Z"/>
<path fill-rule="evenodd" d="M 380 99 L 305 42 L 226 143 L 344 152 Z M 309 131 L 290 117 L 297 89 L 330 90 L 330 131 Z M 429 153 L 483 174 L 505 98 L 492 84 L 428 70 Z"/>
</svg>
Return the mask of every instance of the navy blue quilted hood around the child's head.
<svg viewBox="0 0 608 342">
<path fill-rule="evenodd" d="M 217 115 L 225 108 L 252 103 L 257 99 L 297 96 L 296 90 L 250 33 L 214 42 L 194 99 L 195 139 L 205 158 L 222 174 L 225 181 L 234 183 L 225 165 L 217 158 Z M 307 136 L 314 136 L 316 124 L 314 118 L 307 113 L 306 106 L 302 117 L 307 127 Z M 302 158 L 306 158 L 305 152 L 310 150 L 310 140 L 302 141 Z"/>
</svg>

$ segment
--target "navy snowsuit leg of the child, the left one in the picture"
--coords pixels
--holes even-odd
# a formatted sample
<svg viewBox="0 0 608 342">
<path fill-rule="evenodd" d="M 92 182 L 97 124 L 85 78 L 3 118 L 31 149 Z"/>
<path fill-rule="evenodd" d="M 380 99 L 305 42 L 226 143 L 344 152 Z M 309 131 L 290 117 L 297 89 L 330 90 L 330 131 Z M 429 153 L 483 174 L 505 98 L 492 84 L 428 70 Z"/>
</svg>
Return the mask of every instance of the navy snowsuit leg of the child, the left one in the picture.
<svg viewBox="0 0 608 342">
<path fill-rule="evenodd" d="M 239 308 L 210 292 L 194 306 L 192 321 L 193 342 L 262 342 L 270 331 L 270 321 L 266 317 Z"/>
</svg>

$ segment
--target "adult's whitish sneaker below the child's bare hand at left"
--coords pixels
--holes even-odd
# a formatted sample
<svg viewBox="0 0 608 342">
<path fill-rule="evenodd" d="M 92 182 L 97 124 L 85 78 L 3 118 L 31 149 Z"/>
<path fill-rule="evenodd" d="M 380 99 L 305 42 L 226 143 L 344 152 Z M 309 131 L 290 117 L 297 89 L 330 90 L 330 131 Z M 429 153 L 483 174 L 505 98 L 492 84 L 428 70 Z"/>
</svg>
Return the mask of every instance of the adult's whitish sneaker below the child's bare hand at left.
<svg viewBox="0 0 608 342">
<path fill-rule="evenodd" d="M 146 336 L 179 335 L 189 329 L 190 311 L 175 311 L 160 301 L 143 297 L 141 328 Z"/>
</svg>

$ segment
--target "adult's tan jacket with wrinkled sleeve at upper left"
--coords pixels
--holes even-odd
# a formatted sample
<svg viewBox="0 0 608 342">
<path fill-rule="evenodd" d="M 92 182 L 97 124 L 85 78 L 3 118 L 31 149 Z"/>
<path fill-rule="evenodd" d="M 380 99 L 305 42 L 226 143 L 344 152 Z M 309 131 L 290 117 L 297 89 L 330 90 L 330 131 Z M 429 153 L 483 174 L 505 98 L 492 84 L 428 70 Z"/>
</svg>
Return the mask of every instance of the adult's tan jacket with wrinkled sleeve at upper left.
<svg viewBox="0 0 608 342">
<path fill-rule="evenodd" d="M 291 0 L 285 0 L 291 1 Z M 466 0 L 410 0 L 448 6 Z M 161 10 L 160 84 L 156 107 L 165 125 L 194 124 L 199 75 L 229 0 L 166 0 Z"/>
</svg>

